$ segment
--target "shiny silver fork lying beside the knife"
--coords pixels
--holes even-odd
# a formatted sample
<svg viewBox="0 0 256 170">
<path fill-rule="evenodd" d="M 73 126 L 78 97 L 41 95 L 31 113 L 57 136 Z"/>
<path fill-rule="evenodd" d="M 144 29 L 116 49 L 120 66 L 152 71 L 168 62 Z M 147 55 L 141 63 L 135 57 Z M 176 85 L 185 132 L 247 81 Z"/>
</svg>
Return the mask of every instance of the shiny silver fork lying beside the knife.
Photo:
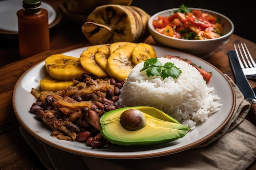
<svg viewBox="0 0 256 170">
<path fill-rule="evenodd" d="M 246 44 L 241 43 L 241 48 L 239 44 L 237 44 L 238 48 L 236 48 L 236 44 L 234 44 L 234 47 L 244 75 L 249 79 L 256 79 L 256 64 Z"/>
</svg>

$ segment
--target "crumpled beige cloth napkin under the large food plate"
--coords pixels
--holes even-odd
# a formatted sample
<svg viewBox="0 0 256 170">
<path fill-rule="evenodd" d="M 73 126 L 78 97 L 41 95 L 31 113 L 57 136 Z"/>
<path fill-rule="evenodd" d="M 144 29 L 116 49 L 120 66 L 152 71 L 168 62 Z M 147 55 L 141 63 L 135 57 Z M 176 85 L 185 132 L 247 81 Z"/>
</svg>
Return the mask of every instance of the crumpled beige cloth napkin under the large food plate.
<svg viewBox="0 0 256 170">
<path fill-rule="evenodd" d="M 256 126 L 245 119 L 249 102 L 227 78 L 237 98 L 229 123 L 203 144 L 176 154 L 131 160 L 84 157 L 44 144 L 22 126 L 20 132 L 48 170 L 245 170 L 256 160 Z"/>
</svg>

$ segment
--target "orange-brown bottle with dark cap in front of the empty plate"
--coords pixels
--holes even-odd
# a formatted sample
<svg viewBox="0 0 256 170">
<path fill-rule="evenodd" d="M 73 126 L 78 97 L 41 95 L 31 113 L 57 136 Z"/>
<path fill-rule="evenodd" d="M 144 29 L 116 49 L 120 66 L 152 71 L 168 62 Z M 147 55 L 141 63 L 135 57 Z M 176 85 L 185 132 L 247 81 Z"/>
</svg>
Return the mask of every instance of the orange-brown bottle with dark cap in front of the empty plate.
<svg viewBox="0 0 256 170">
<path fill-rule="evenodd" d="M 17 11 L 20 57 L 26 58 L 50 49 L 48 12 L 40 0 L 23 0 Z"/>
</svg>

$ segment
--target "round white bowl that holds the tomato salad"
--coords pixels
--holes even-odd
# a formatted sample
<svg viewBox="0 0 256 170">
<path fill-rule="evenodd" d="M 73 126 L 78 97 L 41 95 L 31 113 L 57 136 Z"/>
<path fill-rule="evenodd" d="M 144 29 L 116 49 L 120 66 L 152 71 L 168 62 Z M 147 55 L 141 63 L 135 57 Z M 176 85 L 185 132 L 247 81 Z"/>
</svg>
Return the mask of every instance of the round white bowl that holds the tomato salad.
<svg viewBox="0 0 256 170">
<path fill-rule="evenodd" d="M 224 45 L 234 32 L 234 24 L 233 22 L 227 18 L 226 16 L 207 9 L 200 8 L 189 8 L 189 9 L 198 9 L 202 12 L 209 13 L 215 17 L 220 17 L 220 24 L 223 27 L 223 36 L 214 39 L 207 40 L 184 40 L 179 38 L 169 37 L 167 35 L 161 34 L 155 31 L 153 26 L 153 20 L 157 19 L 157 16 L 169 16 L 173 14 L 173 11 L 178 10 L 179 8 L 167 9 L 161 12 L 158 12 L 148 20 L 148 29 L 150 34 L 152 35 L 155 42 L 161 46 L 171 47 L 173 49 L 177 49 L 179 51 L 183 51 L 186 53 L 191 53 L 195 56 L 198 56 L 202 59 L 206 59 L 211 56 L 211 54 L 218 50 L 222 45 Z"/>
</svg>

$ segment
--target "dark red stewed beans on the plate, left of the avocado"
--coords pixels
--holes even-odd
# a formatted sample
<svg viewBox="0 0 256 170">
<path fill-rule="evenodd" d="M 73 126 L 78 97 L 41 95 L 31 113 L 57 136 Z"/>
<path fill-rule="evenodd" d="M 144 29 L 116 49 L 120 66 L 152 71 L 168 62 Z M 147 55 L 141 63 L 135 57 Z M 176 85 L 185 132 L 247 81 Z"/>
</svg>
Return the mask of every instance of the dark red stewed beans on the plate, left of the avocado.
<svg viewBox="0 0 256 170">
<path fill-rule="evenodd" d="M 94 82 L 89 80 L 89 78 L 94 80 L 96 80 L 96 78 L 99 79 L 99 77 L 88 75 L 86 73 L 81 76 L 81 79 L 87 85 L 94 85 Z M 69 122 L 68 124 L 64 124 L 66 128 L 70 129 L 76 127 L 76 141 L 86 142 L 86 144 L 93 148 L 102 148 L 105 145 L 110 144 L 110 142 L 108 142 L 99 131 L 99 119 L 103 114 L 110 110 L 122 108 L 122 106 L 116 104 L 116 102 L 119 99 L 121 93 L 120 89 L 124 82 L 117 82 L 115 79 L 110 78 L 109 83 L 114 86 L 114 90 L 110 88 L 105 92 L 106 94 L 101 94 L 100 96 L 99 93 L 87 94 L 87 100 L 94 101 L 91 106 L 83 106 L 79 108 L 62 107 L 58 102 L 55 102 L 57 99 L 53 97 L 54 95 L 47 95 L 44 101 L 43 99 L 38 98 L 37 101 L 32 104 L 30 112 L 34 113 L 38 119 L 42 120 L 43 118 L 45 119 L 44 115 L 47 110 L 47 113 L 52 113 L 52 116 L 56 116 L 55 118 L 60 121 Z M 76 88 L 81 90 L 83 86 L 77 86 Z M 68 98 L 67 102 L 82 102 L 83 98 L 84 96 L 76 93 L 73 97 Z M 67 125 L 69 127 L 67 127 Z"/>
</svg>

